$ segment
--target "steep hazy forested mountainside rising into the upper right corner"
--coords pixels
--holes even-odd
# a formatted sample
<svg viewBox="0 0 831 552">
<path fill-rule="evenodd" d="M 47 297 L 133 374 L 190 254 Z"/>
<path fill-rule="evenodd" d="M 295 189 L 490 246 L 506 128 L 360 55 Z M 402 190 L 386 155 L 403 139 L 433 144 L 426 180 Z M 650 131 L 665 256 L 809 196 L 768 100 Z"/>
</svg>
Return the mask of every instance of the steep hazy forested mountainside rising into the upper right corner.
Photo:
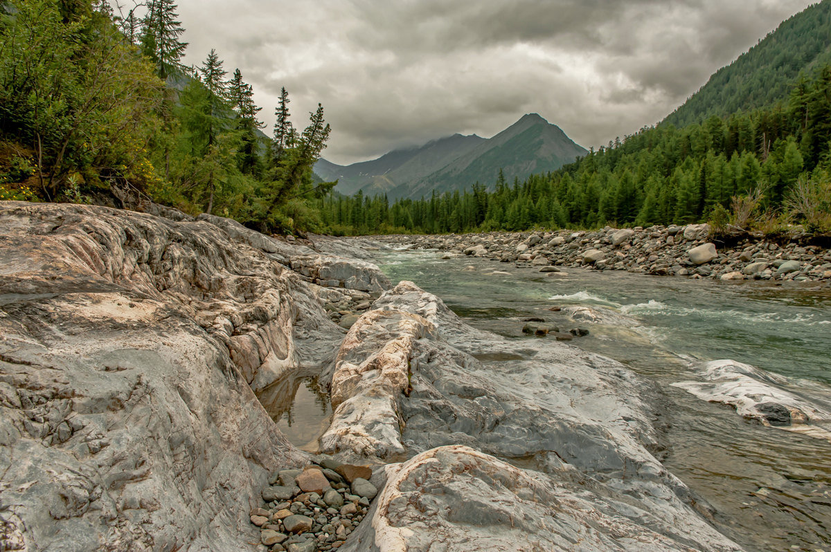
<svg viewBox="0 0 831 552">
<path fill-rule="evenodd" d="M 786 101 L 801 72 L 831 63 L 831 0 L 805 8 L 729 66 L 716 71 L 663 121 L 682 127 L 711 115 L 770 107 Z"/>
</svg>

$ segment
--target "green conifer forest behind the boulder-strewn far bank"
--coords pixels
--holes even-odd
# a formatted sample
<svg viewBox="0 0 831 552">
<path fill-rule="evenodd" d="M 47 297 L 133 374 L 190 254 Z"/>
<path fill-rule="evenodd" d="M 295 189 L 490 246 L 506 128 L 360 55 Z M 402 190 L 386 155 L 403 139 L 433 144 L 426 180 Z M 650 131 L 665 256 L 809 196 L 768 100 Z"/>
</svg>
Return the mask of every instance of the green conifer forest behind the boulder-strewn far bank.
<svg viewBox="0 0 831 552">
<path fill-rule="evenodd" d="M 681 129 L 643 128 L 552 173 L 507 183 L 500 171 L 487 188 L 475 183 L 461 193 L 392 203 L 332 193 L 318 208 L 336 232 L 436 233 L 725 224 L 752 198 L 755 218 L 773 226 L 808 222 L 831 230 L 829 169 L 831 66 L 824 66 L 800 76 L 786 104 Z"/>
</svg>

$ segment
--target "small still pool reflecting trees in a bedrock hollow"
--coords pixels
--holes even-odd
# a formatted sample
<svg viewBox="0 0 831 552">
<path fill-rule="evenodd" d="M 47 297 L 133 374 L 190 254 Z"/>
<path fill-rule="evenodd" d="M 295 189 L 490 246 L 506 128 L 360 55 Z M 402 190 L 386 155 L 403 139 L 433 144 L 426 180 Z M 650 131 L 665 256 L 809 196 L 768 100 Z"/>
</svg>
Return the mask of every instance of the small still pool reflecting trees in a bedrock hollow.
<svg viewBox="0 0 831 552">
<path fill-rule="evenodd" d="M 299 374 L 282 379 L 258 393 L 260 403 L 293 445 L 317 452 L 317 439 L 332 421 L 329 397 L 317 377 Z"/>
</svg>

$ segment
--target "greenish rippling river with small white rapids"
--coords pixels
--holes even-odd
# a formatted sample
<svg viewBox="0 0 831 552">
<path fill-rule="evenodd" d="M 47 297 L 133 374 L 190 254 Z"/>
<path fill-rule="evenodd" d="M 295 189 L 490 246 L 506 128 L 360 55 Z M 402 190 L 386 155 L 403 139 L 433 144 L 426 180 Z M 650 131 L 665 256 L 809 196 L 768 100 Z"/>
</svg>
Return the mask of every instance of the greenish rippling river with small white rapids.
<svg viewBox="0 0 831 552">
<path fill-rule="evenodd" d="M 627 364 L 666 394 L 661 461 L 712 507 L 716 527 L 747 550 L 831 551 L 831 442 L 765 427 L 671 383 L 693 364 L 734 359 L 831 397 L 831 290 L 565 269 L 549 276 L 438 252 L 378 252 L 393 282 L 414 281 L 470 325 L 524 339 L 523 319 L 584 327 L 572 343 Z M 473 266 L 473 270 L 465 267 Z M 574 323 L 552 307 L 602 307 L 614 325 Z"/>
</svg>

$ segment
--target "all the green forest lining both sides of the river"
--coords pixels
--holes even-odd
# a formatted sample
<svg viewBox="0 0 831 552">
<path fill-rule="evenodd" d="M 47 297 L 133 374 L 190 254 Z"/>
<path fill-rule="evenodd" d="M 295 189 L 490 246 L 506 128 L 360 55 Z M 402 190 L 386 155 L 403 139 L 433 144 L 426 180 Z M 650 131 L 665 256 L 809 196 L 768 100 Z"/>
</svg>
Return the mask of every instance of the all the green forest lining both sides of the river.
<svg viewBox="0 0 831 552">
<path fill-rule="evenodd" d="M 184 66 L 172 0 L 118 13 L 104 0 L 7 0 L 0 13 L 0 199 L 125 207 L 145 198 L 267 232 L 707 220 L 831 229 L 831 66 L 816 66 L 817 56 L 765 108 L 682 127 L 670 117 L 553 173 L 506 182 L 500 172 L 462 183 L 464 192 L 391 203 L 344 197 L 312 173 L 330 132 L 322 105 L 295 127 L 283 89 L 268 138 L 239 69 L 214 50 Z M 775 46 L 775 36 L 765 41 Z"/>
</svg>

